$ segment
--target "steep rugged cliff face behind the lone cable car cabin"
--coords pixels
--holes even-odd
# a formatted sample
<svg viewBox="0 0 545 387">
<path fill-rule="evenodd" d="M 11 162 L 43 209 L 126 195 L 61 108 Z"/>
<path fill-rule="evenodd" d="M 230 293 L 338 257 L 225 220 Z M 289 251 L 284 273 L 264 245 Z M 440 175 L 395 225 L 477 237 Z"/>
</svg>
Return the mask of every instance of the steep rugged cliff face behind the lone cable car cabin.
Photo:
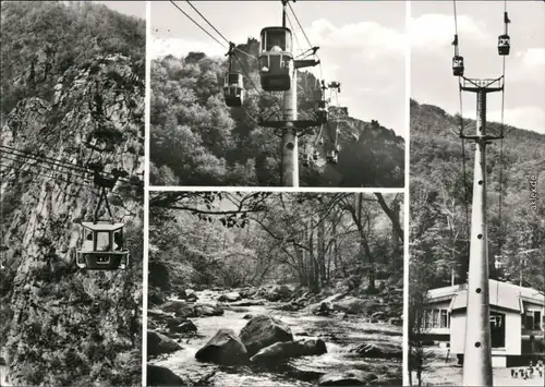
<svg viewBox="0 0 545 387">
<path fill-rule="evenodd" d="M 60 76 L 51 100 L 23 99 L 3 121 L 0 344 L 15 385 L 140 385 L 141 73 L 130 58 L 96 58 Z M 125 222 L 125 271 L 75 267 L 80 222 L 98 199 L 88 162 L 128 173 L 109 193 Z"/>
</svg>

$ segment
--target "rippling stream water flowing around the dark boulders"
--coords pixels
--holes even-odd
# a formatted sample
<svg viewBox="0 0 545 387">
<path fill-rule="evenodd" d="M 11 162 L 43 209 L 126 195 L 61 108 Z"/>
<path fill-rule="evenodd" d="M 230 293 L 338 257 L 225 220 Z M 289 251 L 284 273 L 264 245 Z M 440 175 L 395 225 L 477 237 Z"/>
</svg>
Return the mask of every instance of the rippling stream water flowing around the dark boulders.
<svg viewBox="0 0 545 387">
<path fill-rule="evenodd" d="M 205 304 L 215 303 L 219 297 L 219 293 L 210 291 L 197 294 L 197 303 Z M 315 316 L 304 311 L 284 312 L 275 310 L 275 303 L 267 303 L 265 306 L 237 306 L 226 310 L 222 316 L 192 318 L 198 329 L 197 335 L 179 340 L 182 350 L 155 359 L 150 364 L 165 366 L 192 380 L 215 372 L 210 380 L 220 386 L 314 386 L 323 374 L 354 368 L 372 372 L 379 377 L 401 378 L 400 360 L 366 359 L 350 353 L 351 349 L 362 343 L 398 342 L 401 346 L 401 327 L 364 323 L 356 316 L 341 319 L 335 315 Z M 243 318 L 246 314 L 269 314 L 287 323 L 295 340 L 301 337 L 320 338 L 326 342 L 327 353 L 293 359 L 276 370 L 218 366 L 195 360 L 195 353 L 218 329 L 230 328 L 239 334 L 247 324 L 247 319 Z"/>
</svg>

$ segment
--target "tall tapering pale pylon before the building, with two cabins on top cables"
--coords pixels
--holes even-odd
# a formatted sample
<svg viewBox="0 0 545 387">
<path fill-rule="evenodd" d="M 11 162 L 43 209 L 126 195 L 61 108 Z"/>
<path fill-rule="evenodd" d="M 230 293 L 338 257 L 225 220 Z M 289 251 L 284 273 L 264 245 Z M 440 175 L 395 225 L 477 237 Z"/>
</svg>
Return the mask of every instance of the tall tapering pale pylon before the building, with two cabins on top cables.
<svg viewBox="0 0 545 387">
<path fill-rule="evenodd" d="M 506 32 L 498 40 L 498 53 L 504 56 L 504 59 L 509 53 L 507 23 L 509 23 L 509 20 L 507 12 L 505 12 Z M 462 385 L 493 386 L 488 239 L 486 226 L 486 145 L 492 144 L 495 140 L 504 138 L 504 130 L 501 129 L 499 135 L 487 133 L 486 99 L 489 93 L 504 92 L 505 62 L 504 73 L 498 78 L 468 78 L 463 75 L 463 57 L 460 57 L 458 52 L 458 34 L 455 35 L 452 44 L 455 46 L 452 70 L 453 75 L 459 77 L 460 99 L 462 92 L 474 93 L 476 95 L 475 134 L 464 134 L 463 118 L 461 118 L 459 132 L 462 141 L 469 140 L 475 143 Z"/>
</svg>

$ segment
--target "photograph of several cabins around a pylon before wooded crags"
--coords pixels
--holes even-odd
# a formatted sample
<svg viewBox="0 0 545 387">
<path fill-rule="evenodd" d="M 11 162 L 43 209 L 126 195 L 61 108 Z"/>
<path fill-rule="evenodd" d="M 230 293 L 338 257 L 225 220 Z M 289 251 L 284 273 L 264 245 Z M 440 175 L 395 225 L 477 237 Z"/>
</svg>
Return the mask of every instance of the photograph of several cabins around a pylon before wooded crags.
<svg viewBox="0 0 545 387">
<path fill-rule="evenodd" d="M 152 186 L 403 188 L 404 1 L 150 9 Z"/>
</svg>

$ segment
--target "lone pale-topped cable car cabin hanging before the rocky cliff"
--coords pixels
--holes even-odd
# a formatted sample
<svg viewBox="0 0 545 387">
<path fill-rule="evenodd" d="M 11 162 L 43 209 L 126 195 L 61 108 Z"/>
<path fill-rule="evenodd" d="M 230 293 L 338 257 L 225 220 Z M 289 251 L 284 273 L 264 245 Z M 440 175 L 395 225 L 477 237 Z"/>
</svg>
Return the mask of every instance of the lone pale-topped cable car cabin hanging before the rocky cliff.
<svg viewBox="0 0 545 387">
<path fill-rule="evenodd" d="M 76 265 L 89 270 L 124 270 L 129 251 L 123 246 L 123 223 L 82 221 L 83 243 Z"/>
</svg>

